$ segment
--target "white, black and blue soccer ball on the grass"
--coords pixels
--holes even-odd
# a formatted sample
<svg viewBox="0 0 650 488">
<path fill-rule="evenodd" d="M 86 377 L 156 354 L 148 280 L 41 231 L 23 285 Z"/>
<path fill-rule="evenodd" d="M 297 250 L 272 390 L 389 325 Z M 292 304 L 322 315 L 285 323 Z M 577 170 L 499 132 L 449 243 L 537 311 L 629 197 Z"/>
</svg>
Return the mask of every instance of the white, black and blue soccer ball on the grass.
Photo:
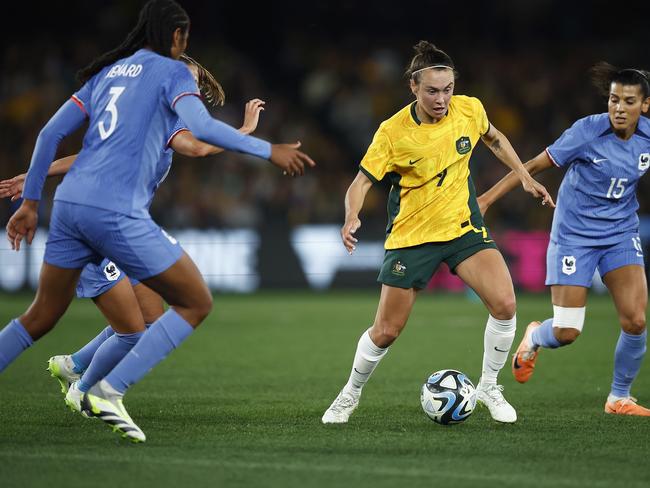
<svg viewBox="0 0 650 488">
<path fill-rule="evenodd" d="M 422 409 L 438 424 L 458 424 L 466 420 L 476 406 L 476 388 L 460 371 L 436 371 L 422 385 Z"/>
</svg>

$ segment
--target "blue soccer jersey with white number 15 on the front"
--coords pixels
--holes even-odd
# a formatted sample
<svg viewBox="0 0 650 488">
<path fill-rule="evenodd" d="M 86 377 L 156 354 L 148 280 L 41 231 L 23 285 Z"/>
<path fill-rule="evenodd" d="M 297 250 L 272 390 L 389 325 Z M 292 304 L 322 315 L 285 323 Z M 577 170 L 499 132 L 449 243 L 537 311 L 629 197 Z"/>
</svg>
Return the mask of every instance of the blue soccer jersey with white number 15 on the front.
<svg viewBox="0 0 650 488">
<path fill-rule="evenodd" d="M 568 167 L 557 198 L 551 240 L 563 245 L 607 246 L 636 234 L 636 188 L 650 168 L 650 120 L 641 117 L 624 141 L 608 114 L 578 120 L 546 152 Z"/>
</svg>

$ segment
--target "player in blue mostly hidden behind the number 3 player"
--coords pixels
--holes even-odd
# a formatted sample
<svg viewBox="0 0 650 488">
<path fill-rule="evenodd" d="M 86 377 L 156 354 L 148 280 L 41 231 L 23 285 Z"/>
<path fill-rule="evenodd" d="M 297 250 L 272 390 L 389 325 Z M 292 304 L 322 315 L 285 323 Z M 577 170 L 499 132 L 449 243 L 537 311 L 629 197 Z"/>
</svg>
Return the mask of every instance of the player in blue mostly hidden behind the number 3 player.
<svg viewBox="0 0 650 488">
<path fill-rule="evenodd" d="M 204 99 L 215 106 L 223 105 L 225 94 L 212 74 L 189 56 L 183 55 L 181 59 L 190 68 Z M 256 129 L 260 112 L 264 110 L 264 103 L 262 100 L 253 99 L 246 104 L 244 124 L 239 129 L 240 132 L 250 134 Z M 156 176 L 158 183 L 151 189 L 151 199 L 153 199 L 153 192 L 169 172 L 173 152 L 200 157 L 221 151 L 222 149 L 218 147 L 197 140 L 182 124 L 177 124 L 162 152 Z M 73 155 L 55 161 L 48 170 L 48 176 L 65 175 L 75 159 L 76 155 Z M 12 201 L 18 199 L 23 190 L 25 176 L 21 174 L 0 181 L 0 198 L 10 197 Z M 101 379 L 107 372 L 107 368 L 110 370 L 110 367 L 123 357 L 120 355 L 104 357 L 103 349 L 106 346 L 99 349 L 106 340 L 113 337 L 113 327 L 119 330 L 128 328 L 129 324 L 141 324 L 141 327 L 144 327 L 164 313 L 160 295 L 138 280 L 133 278 L 124 280 L 124 278 L 125 274 L 108 259 L 104 259 L 99 265 L 88 263 L 81 272 L 77 284 L 77 297 L 93 299 L 109 324 L 115 325 L 107 326 L 79 351 L 71 355 L 53 356 L 48 362 L 48 370 L 59 381 L 61 390 L 65 394 L 66 404 L 75 411 L 81 410 L 82 395 Z M 99 353 L 95 358 L 98 350 Z"/>
</svg>

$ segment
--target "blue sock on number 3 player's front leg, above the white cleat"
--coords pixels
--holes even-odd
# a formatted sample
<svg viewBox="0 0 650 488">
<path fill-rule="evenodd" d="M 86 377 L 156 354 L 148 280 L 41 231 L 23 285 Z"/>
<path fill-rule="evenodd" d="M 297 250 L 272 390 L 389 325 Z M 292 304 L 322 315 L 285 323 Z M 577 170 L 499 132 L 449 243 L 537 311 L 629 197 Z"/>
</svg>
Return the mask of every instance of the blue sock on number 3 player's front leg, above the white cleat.
<svg viewBox="0 0 650 488">
<path fill-rule="evenodd" d="M 194 329 L 173 308 L 156 320 L 126 357 L 104 378 L 115 390 L 124 393 L 165 359 Z"/>
</svg>

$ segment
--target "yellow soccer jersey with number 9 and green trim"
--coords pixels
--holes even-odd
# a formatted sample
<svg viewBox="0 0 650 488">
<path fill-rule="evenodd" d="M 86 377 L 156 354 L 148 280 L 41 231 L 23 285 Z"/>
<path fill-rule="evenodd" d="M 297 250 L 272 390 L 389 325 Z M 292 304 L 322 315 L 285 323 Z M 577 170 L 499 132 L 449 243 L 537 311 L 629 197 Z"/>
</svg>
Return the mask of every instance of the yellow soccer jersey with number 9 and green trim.
<svg viewBox="0 0 650 488">
<path fill-rule="evenodd" d="M 481 102 L 462 95 L 435 124 L 420 122 L 415 102 L 382 122 L 359 169 L 373 182 L 386 175 L 392 182 L 386 249 L 478 231 L 470 221 L 477 204 L 469 158 L 489 128 Z"/>
</svg>

